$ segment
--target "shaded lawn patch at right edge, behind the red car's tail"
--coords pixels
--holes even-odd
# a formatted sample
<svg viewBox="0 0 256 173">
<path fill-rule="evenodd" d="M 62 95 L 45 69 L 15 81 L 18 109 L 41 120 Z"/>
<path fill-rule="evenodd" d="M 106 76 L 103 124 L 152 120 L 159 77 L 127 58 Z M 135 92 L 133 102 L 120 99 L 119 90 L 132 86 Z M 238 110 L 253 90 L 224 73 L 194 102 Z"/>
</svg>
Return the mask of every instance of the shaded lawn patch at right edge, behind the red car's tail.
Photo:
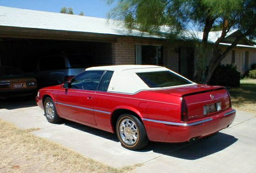
<svg viewBox="0 0 256 173">
<path fill-rule="evenodd" d="M 240 80 L 240 87 L 230 88 L 232 107 L 256 112 L 256 79 Z"/>
</svg>

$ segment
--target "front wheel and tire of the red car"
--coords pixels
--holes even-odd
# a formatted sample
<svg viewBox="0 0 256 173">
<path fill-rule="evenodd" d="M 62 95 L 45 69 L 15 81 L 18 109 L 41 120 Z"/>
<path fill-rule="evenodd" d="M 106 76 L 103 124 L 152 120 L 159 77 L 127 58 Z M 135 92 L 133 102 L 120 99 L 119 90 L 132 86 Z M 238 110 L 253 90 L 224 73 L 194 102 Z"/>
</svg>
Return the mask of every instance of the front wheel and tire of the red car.
<svg viewBox="0 0 256 173">
<path fill-rule="evenodd" d="M 44 113 L 47 121 L 50 123 L 58 124 L 62 120 L 57 113 L 54 101 L 49 97 L 44 101 Z"/>
</svg>

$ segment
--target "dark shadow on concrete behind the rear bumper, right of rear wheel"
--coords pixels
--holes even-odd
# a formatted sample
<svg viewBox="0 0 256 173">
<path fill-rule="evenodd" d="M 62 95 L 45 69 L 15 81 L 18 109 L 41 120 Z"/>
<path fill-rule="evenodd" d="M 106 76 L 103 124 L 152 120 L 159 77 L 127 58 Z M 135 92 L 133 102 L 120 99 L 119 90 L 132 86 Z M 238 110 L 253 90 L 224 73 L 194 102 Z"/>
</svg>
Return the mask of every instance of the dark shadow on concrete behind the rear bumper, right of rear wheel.
<svg viewBox="0 0 256 173">
<path fill-rule="evenodd" d="M 213 153 L 220 152 L 233 145 L 238 139 L 226 133 L 216 133 L 212 136 L 184 143 L 150 142 L 141 152 L 153 151 L 171 157 L 185 160 L 197 160 Z"/>
</svg>

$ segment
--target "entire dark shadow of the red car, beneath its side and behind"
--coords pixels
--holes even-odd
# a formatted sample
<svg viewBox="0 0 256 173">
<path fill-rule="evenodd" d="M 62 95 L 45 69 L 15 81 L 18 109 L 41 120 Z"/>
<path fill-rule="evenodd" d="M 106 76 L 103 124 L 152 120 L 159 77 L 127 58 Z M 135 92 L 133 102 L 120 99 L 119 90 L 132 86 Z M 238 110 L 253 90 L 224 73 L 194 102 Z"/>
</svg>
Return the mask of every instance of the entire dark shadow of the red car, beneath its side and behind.
<svg viewBox="0 0 256 173">
<path fill-rule="evenodd" d="M 109 133 L 100 129 L 96 129 L 89 126 L 84 126 L 72 121 L 65 120 L 64 124 L 72 128 L 81 130 L 86 133 L 90 133 L 107 140 L 119 142 L 116 134 Z M 162 143 L 162 142 L 149 142 L 141 150 L 135 152 L 144 153 L 153 151 L 154 153 L 160 153 L 171 157 L 176 157 L 185 160 L 197 160 L 213 153 L 220 152 L 225 148 L 233 145 L 238 139 L 232 135 L 226 133 L 216 133 L 209 137 L 205 137 L 194 142 L 183 143 Z M 120 145 L 121 147 L 121 145 Z"/>
</svg>

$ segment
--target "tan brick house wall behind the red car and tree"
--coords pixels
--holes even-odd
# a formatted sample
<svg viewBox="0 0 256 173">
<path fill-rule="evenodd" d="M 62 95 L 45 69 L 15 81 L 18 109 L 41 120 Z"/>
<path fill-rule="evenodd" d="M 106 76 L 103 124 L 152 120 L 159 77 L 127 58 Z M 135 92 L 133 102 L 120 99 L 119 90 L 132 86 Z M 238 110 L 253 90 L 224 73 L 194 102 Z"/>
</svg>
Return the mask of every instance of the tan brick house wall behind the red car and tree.
<svg viewBox="0 0 256 173">
<path fill-rule="evenodd" d="M 156 39 L 135 38 L 135 37 L 117 38 L 117 40 L 112 43 L 113 64 L 114 65 L 135 64 L 135 45 L 140 45 L 140 44 L 163 46 L 164 66 L 175 72 L 179 72 L 178 45 L 173 45 L 167 41 L 156 40 Z M 233 50 L 236 51 L 235 65 L 237 67 L 237 70 L 241 74 L 245 72 L 243 70 L 243 51 L 249 51 L 249 68 L 253 63 L 256 63 L 255 48 L 236 47 Z M 197 54 L 198 54 L 198 49 L 195 48 L 195 68 L 196 68 Z M 209 45 L 205 54 L 206 54 L 206 64 L 208 64 L 213 54 L 212 45 Z M 232 54 L 232 51 L 230 51 L 229 54 L 226 56 L 226 58 L 222 60 L 222 64 L 231 64 L 231 54 Z"/>
</svg>

